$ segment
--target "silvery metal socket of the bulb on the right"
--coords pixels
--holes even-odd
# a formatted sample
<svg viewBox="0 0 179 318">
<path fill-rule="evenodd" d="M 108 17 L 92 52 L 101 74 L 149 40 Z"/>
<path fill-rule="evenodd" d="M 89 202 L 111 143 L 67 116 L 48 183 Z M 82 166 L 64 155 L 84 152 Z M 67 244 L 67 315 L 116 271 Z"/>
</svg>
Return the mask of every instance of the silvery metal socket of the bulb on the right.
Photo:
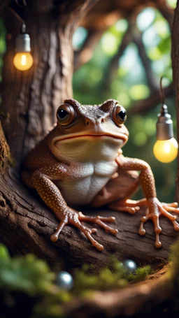
<svg viewBox="0 0 179 318">
<path fill-rule="evenodd" d="M 166 105 L 162 106 L 161 113 L 157 116 L 157 140 L 173 138 L 173 121 L 171 120 L 171 115 L 169 115 Z"/>
</svg>

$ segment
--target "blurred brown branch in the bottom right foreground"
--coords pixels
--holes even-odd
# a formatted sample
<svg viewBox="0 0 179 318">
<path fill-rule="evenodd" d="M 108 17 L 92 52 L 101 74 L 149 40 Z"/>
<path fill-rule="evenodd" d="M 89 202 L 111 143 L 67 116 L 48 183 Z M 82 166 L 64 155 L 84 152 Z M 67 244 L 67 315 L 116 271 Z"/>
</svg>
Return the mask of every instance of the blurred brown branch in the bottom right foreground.
<svg viewBox="0 0 179 318">
<path fill-rule="evenodd" d="M 153 280 L 149 277 L 145 282 L 118 291 L 96 291 L 90 298 L 78 298 L 64 305 L 66 317 L 151 317 L 152 313 L 160 317 L 159 313 L 162 314 L 169 303 L 174 312 L 178 301 L 175 291 L 178 277 L 164 275 L 167 269 L 169 266 L 164 266 L 155 273 Z"/>
</svg>

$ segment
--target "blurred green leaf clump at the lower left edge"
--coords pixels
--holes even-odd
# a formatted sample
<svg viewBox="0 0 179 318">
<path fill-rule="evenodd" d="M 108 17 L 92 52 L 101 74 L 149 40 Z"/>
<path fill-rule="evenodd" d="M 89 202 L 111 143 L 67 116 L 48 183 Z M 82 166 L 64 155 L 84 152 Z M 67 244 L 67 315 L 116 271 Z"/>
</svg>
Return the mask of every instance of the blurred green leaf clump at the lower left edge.
<svg viewBox="0 0 179 318">
<path fill-rule="evenodd" d="M 6 248 L 0 245 L 1 288 L 35 296 L 50 291 L 54 277 L 48 265 L 36 256 L 27 254 L 11 259 Z"/>
</svg>

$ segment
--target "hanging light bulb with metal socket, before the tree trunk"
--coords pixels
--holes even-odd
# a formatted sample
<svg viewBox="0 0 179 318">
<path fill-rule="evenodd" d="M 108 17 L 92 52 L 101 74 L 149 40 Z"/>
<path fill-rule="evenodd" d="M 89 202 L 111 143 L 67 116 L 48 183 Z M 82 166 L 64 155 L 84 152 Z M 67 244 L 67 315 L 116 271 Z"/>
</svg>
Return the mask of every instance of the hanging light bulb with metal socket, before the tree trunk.
<svg viewBox="0 0 179 318">
<path fill-rule="evenodd" d="M 31 56 L 31 45 L 30 45 L 29 34 L 26 33 L 26 26 L 23 23 L 20 34 L 15 39 L 15 57 L 13 64 L 20 71 L 27 71 L 33 64 L 33 57 Z"/>
</svg>

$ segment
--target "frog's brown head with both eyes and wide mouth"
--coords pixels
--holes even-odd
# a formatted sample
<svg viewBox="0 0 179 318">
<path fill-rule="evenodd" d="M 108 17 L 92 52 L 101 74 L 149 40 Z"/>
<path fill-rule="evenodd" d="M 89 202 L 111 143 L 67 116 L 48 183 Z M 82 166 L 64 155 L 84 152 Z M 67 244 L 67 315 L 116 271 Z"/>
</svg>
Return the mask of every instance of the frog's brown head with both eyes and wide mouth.
<svg viewBox="0 0 179 318">
<path fill-rule="evenodd" d="M 53 146 L 67 157 L 78 152 L 110 156 L 127 143 L 129 132 L 124 126 L 126 111 L 115 99 L 108 99 L 101 105 L 81 105 L 75 99 L 66 99 L 57 110 L 58 136 Z M 70 156 L 68 156 L 69 152 Z M 90 153 L 92 152 L 92 153 Z"/>
</svg>

